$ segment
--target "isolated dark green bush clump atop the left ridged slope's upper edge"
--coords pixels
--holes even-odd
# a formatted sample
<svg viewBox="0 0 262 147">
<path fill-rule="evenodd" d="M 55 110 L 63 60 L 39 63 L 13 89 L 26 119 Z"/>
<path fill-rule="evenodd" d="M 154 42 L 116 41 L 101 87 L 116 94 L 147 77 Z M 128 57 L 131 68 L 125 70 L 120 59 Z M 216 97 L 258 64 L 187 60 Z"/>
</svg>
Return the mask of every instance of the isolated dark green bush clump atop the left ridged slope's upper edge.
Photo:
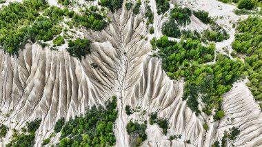
<svg viewBox="0 0 262 147">
<path fill-rule="evenodd" d="M 76 39 L 75 41 L 68 41 L 69 54 L 78 59 L 85 58 L 86 55 L 90 54 L 90 41 L 88 39 Z"/>
</svg>

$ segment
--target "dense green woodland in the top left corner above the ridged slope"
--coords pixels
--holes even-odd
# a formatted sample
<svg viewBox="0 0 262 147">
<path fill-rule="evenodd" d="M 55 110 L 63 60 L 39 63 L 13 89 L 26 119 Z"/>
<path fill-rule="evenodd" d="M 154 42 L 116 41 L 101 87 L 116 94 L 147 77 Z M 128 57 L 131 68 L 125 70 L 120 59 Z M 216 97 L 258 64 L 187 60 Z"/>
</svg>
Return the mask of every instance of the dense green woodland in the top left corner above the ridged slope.
<svg viewBox="0 0 262 147">
<path fill-rule="evenodd" d="M 40 15 L 40 12 L 43 14 Z M 10 3 L 0 10 L 0 25 L 2 26 L 0 45 L 9 55 L 17 54 L 18 50 L 22 49 L 28 41 L 33 43 L 39 41 L 42 45 L 46 45 L 46 41 L 54 39 L 54 46 L 61 46 L 66 43 L 64 37 L 60 36 L 63 30 L 61 22 L 65 17 L 72 20 L 66 22 L 72 22 L 70 28 L 82 26 L 86 29 L 102 30 L 107 26 L 107 20 L 99 14 L 97 9 L 86 9 L 78 14 L 68 8 L 49 7 L 45 0 L 25 0 L 23 3 Z M 89 52 L 83 50 L 74 52 L 72 46 L 68 51 L 70 55 L 77 57 L 79 53 L 85 56 Z"/>
</svg>

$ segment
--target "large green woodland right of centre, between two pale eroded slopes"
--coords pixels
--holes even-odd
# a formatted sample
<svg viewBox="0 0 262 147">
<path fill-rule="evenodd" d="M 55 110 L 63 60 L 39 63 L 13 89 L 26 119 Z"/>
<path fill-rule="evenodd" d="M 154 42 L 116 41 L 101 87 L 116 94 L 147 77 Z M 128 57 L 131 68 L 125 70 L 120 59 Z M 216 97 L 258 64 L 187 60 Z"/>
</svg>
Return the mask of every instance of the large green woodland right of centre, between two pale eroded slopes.
<svg viewBox="0 0 262 147">
<path fill-rule="evenodd" d="M 154 42 L 152 42 L 154 43 Z M 163 36 L 155 41 L 159 48 L 157 55 L 161 57 L 162 67 L 171 79 L 185 79 L 183 99 L 187 99 L 188 106 L 199 115 L 199 98 L 205 104 L 203 112 L 212 115 L 214 119 L 221 119 L 222 95 L 231 89 L 234 81 L 248 75 L 245 65 L 240 60 L 232 60 L 225 55 L 216 55 L 215 46 L 202 46 L 197 39 L 181 39 L 180 42 L 170 41 Z"/>
</svg>

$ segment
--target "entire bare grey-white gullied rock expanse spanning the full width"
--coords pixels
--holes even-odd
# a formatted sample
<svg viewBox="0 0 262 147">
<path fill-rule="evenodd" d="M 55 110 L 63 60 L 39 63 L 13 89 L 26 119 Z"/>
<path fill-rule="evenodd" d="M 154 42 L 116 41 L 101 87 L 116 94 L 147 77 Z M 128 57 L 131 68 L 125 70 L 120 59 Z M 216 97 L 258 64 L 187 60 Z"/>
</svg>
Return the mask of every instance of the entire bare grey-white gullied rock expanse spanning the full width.
<svg viewBox="0 0 262 147">
<path fill-rule="evenodd" d="M 53 132 L 57 119 L 68 120 L 117 95 L 117 146 L 129 146 L 125 130 L 128 120 L 143 121 L 156 111 L 168 119 L 168 135 L 163 135 L 159 126 L 149 125 L 148 139 L 142 146 L 212 146 L 232 126 L 241 130 L 239 139 L 234 141 L 236 146 L 262 146 L 261 112 L 243 82 L 225 94 L 225 117 L 221 121 L 210 120 L 210 128 L 204 130 L 207 116 L 196 117 L 181 99 L 183 81 L 169 79 L 161 69 L 161 61 L 150 56 L 143 11 L 134 16 L 123 8 L 109 15 L 112 22 L 105 30 L 85 32 L 85 37 L 93 42 L 92 53 L 81 61 L 70 57 L 66 50 L 52 51 L 37 44 L 28 44 L 19 57 L 9 57 L 0 51 L 2 124 L 21 128 L 26 121 L 41 118 L 35 145 L 41 146 L 41 141 Z M 161 24 L 154 26 L 161 28 Z M 126 105 L 139 106 L 146 115 L 128 117 Z M 11 135 L 10 130 L 3 145 Z M 170 141 L 170 135 L 181 138 Z M 51 143 L 58 139 L 52 138 Z"/>
</svg>

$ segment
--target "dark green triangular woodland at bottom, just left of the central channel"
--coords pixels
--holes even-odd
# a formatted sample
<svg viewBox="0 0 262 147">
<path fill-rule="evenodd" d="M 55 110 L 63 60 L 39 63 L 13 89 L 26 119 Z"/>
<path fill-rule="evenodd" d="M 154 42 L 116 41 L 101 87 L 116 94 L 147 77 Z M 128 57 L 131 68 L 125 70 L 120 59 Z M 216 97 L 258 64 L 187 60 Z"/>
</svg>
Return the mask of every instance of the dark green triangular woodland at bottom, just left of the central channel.
<svg viewBox="0 0 262 147">
<path fill-rule="evenodd" d="M 114 123 L 117 119 L 117 97 L 105 107 L 92 106 L 84 115 L 59 119 L 54 132 L 61 132 L 58 146 L 115 146 Z M 49 139 L 47 139 L 48 141 Z"/>
</svg>

